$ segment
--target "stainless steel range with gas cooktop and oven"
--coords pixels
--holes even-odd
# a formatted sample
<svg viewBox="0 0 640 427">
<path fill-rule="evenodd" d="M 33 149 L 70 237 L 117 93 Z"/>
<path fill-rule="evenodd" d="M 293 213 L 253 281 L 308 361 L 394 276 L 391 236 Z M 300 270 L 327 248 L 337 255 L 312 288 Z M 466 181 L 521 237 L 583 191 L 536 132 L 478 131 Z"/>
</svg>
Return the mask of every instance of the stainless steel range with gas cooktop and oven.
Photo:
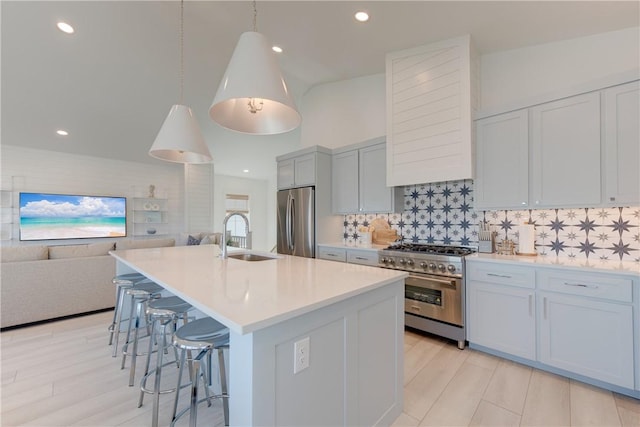
<svg viewBox="0 0 640 427">
<path fill-rule="evenodd" d="M 405 279 L 405 325 L 458 341 L 464 349 L 464 256 L 462 246 L 401 243 L 378 252 L 378 264 L 409 272 Z"/>
</svg>

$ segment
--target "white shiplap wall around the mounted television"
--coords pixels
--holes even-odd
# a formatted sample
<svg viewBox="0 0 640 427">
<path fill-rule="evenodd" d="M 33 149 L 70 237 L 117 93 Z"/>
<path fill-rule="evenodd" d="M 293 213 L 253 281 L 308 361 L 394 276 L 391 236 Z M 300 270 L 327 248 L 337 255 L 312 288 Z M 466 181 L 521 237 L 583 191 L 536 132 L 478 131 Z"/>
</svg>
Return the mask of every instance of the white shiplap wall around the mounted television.
<svg viewBox="0 0 640 427">
<path fill-rule="evenodd" d="M 164 193 L 168 200 L 170 233 L 178 234 L 184 228 L 184 174 L 182 165 L 149 165 L 99 157 L 36 150 L 12 145 L 2 146 L 1 186 L 14 192 L 13 240 L 2 245 L 18 245 L 17 196 L 20 191 L 98 196 L 134 196 L 134 190 L 146 195 L 150 184 L 156 186 L 156 197 Z M 15 184 L 14 184 L 15 183 Z M 130 210 L 127 203 L 128 235 L 133 235 Z M 90 239 L 83 239 L 87 243 Z M 63 241 L 55 241 L 59 244 Z M 80 243 L 65 240 L 64 243 Z"/>
</svg>

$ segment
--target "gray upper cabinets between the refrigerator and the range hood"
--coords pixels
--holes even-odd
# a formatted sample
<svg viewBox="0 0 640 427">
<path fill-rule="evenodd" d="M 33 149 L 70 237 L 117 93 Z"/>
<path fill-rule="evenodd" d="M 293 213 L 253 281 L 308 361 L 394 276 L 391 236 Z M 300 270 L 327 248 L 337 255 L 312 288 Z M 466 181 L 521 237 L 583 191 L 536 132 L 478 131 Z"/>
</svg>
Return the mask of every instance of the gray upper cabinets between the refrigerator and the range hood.
<svg viewBox="0 0 640 427">
<path fill-rule="evenodd" d="M 402 188 L 386 186 L 384 143 L 357 144 L 335 150 L 331 187 L 333 213 L 402 211 Z"/>
</svg>

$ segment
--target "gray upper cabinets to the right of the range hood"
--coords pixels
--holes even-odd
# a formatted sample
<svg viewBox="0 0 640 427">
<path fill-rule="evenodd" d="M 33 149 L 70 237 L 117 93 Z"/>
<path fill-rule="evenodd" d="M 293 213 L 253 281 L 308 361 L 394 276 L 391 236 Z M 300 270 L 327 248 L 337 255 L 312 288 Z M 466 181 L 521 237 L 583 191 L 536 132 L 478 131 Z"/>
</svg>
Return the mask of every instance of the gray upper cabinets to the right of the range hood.
<svg viewBox="0 0 640 427">
<path fill-rule="evenodd" d="M 640 204 L 638 81 L 476 120 L 475 207 Z"/>
</svg>

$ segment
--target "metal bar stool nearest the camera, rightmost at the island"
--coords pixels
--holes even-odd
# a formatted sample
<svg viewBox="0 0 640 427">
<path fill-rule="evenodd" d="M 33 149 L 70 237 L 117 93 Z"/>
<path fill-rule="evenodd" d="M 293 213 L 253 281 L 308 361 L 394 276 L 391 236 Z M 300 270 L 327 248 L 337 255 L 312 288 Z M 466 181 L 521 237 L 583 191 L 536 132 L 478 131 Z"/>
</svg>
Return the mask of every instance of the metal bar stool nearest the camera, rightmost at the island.
<svg viewBox="0 0 640 427">
<path fill-rule="evenodd" d="M 176 387 L 176 396 L 173 403 L 173 417 L 171 426 L 173 427 L 178 419 L 189 411 L 189 426 L 195 427 L 198 413 L 198 404 L 207 401 L 207 405 L 211 406 L 211 399 L 222 399 L 222 407 L 224 411 L 224 424 L 229 425 L 229 395 L 227 394 L 227 374 L 224 363 L 224 348 L 229 348 L 229 329 L 221 323 L 210 317 L 197 319 L 179 328 L 173 334 L 173 345 L 181 350 L 180 369 L 178 373 L 178 385 Z M 204 386 L 206 397 L 198 401 L 198 381 L 201 374 L 202 359 L 209 357 L 208 370 L 209 379 L 211 378 L 211 352 L 218 351 L 218 369 L 220 374 L 221 394 L 209 396 L 209 387 L 206 370 L 202 370 L 204 376 Z M 197 352 L 196 357 L 192 357 L 192 352 Z M 187 359 L 187 353 L 189 355 Z M 189 366 L 191 374 L 191 400 L 189 407 L 176 414 L 178 409 L 178 399 L 180 398 L 180 389 L 182 372 L 186 362 Z"/>
</svg>

